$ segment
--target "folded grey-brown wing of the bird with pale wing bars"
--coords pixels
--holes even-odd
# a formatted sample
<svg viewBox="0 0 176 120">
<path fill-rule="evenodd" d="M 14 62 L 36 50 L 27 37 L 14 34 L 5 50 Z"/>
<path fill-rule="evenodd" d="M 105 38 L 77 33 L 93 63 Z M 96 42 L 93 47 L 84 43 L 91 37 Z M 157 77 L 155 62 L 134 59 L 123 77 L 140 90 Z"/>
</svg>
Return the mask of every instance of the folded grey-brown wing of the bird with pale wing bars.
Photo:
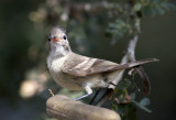
<svg viewBox="0 0 176 120">
<path fill-rule="evenodd" d="M 74 76 L 88 76 L 127 67 L 128 65 L 119 65 L 109 61 L 86 57 L 72 53 L 64 63 L 62 70 Z"/>
</svg>

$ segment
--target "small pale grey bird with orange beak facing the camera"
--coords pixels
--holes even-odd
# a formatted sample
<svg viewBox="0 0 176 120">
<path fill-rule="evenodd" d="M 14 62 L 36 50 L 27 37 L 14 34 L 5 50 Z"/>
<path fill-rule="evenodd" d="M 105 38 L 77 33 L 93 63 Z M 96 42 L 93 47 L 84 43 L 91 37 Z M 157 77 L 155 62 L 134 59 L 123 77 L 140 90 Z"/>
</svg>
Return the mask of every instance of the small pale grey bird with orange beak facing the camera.
<svg viewBox="0 0 176 120">
<path fill-rule="evenodd" d="M 69 90 L 85 89 L 87 91 L 85 96 L 76 100 L 91 95 L 91 88 L 108 87 L 123 69 L 157 61 L 156 58 L 147 58 L 120 65 L 78 55 L 72 52 L 66 31 L 61 26 L 54 26 L 51 30 L 48 43 L 47 68 L 53 79 Z"/>
</svg>

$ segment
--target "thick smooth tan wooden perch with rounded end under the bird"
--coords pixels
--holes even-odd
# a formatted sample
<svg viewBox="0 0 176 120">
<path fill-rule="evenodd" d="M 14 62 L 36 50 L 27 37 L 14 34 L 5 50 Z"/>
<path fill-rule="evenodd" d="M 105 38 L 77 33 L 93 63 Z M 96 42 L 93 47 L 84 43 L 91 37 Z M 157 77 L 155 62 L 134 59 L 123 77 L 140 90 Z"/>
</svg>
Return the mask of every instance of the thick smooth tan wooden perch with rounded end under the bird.
<svg viewBox="0 0 176 120">
<path fill-rule="evenodd" d="M 62 95 L 46 101 L 46 111 L 58 120 L 120 120 L 113 110 L 86 105 Z"/>
</svg>

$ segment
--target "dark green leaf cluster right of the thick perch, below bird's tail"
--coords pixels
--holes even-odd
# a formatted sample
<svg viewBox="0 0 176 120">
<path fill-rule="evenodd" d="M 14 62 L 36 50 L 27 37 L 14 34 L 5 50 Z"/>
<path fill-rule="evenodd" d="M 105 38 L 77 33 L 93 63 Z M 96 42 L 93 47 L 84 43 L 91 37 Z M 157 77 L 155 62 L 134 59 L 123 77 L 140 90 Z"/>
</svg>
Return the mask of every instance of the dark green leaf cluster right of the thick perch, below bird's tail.
<svg viewBox="0 0 176 120">
<path fill-rule="evenodd" d="M 144 97 L 138 102 L 135 92 L 129 95 L 129 88 L 133 88 L 132 81 L 127 78 L 121 80 L 114 90 L 114 101 L 111 102 L 112 109 L 122 117 L 122 120 L 136 120 L 135 107 L 146 112 L 152 112 L 146 108 L 146 106 L 150 105 L 150 99 Z M 135 105 L 135 107 L 133 105 Z"/>
</svg>

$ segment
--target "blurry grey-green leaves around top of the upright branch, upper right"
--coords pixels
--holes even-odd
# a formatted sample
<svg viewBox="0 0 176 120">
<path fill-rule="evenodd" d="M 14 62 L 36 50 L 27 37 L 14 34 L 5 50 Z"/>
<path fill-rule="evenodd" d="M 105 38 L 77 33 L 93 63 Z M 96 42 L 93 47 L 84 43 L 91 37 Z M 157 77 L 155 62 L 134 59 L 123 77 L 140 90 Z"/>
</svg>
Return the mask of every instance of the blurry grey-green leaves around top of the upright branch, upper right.
<svg viewBox="0 0 176 120">
<path fill-rule="evenodd" d="M 125 2 L 111 3 L 109 2 L 106 8 L 111 11 L 114 22 L 109 22 L 107 33 L 111 34 L 111 44 L 124 35 L 135 33 L 135 17 L 139 19 L 144 17 L 155 17 L 166 13 L 166 11 L 175 10 L 176 6 L 167 0 L 136 0 L 127 6 Z M 114 12 L 116 11 L 116 12 Z"/>
</svg>

